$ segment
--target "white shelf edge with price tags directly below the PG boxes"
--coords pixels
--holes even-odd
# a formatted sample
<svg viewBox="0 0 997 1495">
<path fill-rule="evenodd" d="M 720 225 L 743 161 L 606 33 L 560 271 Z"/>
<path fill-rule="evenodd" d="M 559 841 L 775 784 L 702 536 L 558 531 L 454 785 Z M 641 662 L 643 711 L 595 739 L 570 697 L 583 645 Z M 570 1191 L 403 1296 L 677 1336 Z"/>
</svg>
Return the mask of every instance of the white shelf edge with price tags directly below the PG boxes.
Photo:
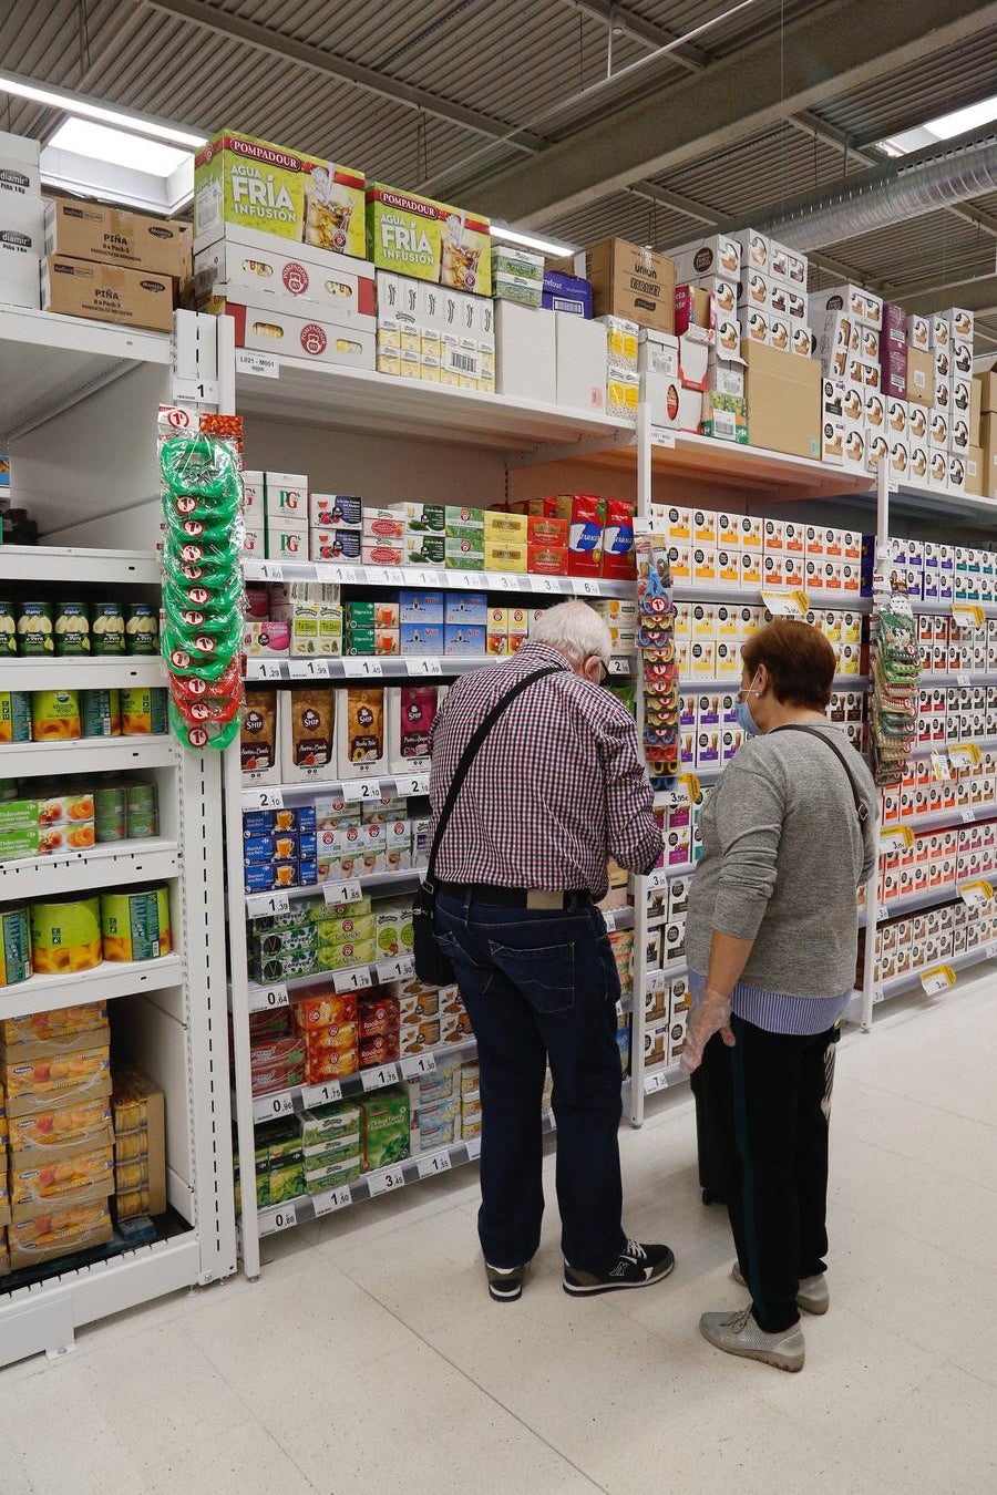
<svg viewBox="0 0 997 1495">
<path fill-rule="evenodd" d="M 623 597 L 634 582 L 596 576 L 534 576 L 526 571 L 450 571 L 445 567 L 350 565 L 324 561 L 244 561 L 247 582 L 321 582 L 329 586 L 432 586 L 510 592 L 520 597 Z"/>
</svg>

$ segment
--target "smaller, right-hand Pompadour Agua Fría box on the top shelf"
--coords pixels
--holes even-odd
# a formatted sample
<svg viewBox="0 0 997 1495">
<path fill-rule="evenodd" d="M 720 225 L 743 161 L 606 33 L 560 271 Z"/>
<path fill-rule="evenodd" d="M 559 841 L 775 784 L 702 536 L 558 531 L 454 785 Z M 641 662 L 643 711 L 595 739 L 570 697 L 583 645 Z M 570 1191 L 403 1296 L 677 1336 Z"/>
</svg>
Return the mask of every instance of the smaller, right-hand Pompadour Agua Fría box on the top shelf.
<svg viewBox="0 0 997 1495">
<path fill-rule="evenodd" d="M 383 182 L 366 190 L 371 259 L 378 269 L 492 295 L 489 220 Z"/>
</svg>

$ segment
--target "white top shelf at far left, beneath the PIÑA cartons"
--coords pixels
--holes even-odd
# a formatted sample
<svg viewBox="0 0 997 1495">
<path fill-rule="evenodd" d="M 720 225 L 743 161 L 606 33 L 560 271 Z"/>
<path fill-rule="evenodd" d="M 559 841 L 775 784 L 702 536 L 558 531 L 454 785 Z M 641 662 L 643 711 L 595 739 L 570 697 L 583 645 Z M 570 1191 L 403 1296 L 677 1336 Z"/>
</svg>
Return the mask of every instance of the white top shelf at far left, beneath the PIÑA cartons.
<svg viewBox="0 0 997 1495">
<path fill-rule="evenodd" d="M 0 431 L 15 441 L 139 363 L 169 366 L 170 336 L 0 308 Z"/>
</svg>

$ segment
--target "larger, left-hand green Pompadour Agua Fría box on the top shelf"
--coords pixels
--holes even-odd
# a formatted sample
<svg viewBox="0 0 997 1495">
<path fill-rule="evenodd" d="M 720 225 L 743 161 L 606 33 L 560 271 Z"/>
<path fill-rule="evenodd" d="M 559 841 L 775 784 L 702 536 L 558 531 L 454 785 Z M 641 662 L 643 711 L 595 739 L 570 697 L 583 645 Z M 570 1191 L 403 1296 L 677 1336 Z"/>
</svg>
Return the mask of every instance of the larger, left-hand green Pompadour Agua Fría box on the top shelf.
<svg viewBox="0 0 997 1495">
<path fill-rule="evenodd" d="M 194 160 L 194 250 L 226 224 L 365 257 L 363 172 L 223 130 Z"/>
</svg>

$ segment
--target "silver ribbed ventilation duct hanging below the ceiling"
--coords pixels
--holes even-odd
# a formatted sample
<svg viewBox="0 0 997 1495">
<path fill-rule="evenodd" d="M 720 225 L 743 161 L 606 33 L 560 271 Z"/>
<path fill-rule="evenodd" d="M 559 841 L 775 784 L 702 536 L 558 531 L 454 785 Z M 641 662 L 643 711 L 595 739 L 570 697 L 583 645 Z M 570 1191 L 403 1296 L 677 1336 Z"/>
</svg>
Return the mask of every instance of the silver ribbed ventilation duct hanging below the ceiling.
<svg viewBox="0 0 997 1495">
<path fill-rule="evenodd" d="M 759 223 L 794 250 L 821 250 L 904 218 L 918 218 L 997 191 L 997 135 L 933 152 L 928 160 L 891 163 L 854 187 Z"/>
</svg>

